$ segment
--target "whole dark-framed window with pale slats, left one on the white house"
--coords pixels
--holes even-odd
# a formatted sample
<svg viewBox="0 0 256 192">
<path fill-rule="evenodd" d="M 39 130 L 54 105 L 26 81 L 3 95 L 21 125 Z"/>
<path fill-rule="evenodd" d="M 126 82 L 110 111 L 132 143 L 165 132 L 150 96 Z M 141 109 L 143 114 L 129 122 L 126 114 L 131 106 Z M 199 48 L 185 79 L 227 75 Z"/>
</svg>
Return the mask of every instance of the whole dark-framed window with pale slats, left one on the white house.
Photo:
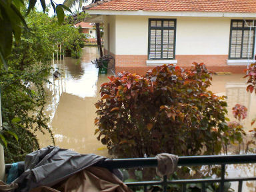
<svg viewBox="0 0 256 192">
<path fill-rule="evenodd" d="M 175 59 L 176 19 L 149 19 L 149 59 Z"/>
</svg>

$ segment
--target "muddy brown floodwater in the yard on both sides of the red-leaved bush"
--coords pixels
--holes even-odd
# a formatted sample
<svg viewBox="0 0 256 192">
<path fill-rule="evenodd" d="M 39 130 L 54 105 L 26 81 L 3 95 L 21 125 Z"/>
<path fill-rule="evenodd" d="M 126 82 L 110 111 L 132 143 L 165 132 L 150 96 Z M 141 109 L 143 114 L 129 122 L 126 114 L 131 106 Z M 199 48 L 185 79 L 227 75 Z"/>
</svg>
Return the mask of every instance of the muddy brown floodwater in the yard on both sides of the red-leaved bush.
<svg viewBox="0 0 256 192">
<path fill-rule="evenodd" d="M 85 47 L 81 59 L 65 58 L 55 60 L 53 67 L 61 73 L 59 79 L 53 79 L 47 87 L 47 106 L 45 111 L 50 117 L 50 126 L 56 145 L 73 149 L 79 153 L 96 153 L 107 156 L 107 149 L 97 141 L 94 131 L 95 106 L 100 98 L 99 87 L 108 81 L 107 75 L 99 75 L 98 69 L 91 63 L 97 57 L 96 47 Z M 113 75 L 113 74 L 108 74 Z M 227 96 L 229 119 L 235 120 L 232 107 L 239 103 L 247 107 L 247 119 L 243 125 L 248 132 L 251 119 L 256 117 L 256 96 L 247 93 L 244 74 L 213 75 L 210 90 L 217 95 Z M 41 147 L 51 145 L 48 134 L 38 133 Z"/>
</svg>

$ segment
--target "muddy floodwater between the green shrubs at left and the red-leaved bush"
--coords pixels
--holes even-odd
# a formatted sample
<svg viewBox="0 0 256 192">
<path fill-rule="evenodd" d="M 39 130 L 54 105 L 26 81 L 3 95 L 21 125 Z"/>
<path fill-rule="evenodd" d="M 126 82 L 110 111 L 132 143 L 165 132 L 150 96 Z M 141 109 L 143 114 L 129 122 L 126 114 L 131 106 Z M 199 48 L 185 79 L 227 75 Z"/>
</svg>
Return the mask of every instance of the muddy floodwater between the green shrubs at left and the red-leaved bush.
<svg viewBox="0 0 256 192">
<path fill-rule="evenodd" d="M 56 145 L 79 153 L 107 156 L 105 146 L 94 135 L 94 103 L 99 99 L 100 85 L 107 81 L 107 75 L 98 75 L 98 69 L 91 64 L 95 57 L 97 49 L 86 47 L 81 59 L 54 61 L 53 67 L 61 77 L 49 76 L 52 84 L 45 87 L 45 113 L 51 118 Z M 38 137 L 41 147 L 51 144 L 49 134 L 38 133 Z"/>
</svg>

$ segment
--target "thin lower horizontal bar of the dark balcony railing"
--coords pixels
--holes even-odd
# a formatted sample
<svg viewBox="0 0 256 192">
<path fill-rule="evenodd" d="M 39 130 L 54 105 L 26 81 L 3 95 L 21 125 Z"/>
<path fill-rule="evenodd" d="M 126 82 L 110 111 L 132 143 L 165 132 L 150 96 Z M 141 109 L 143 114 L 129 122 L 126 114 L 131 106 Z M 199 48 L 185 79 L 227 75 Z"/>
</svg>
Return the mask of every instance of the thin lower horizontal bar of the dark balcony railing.
<svg viewBox="0 0 256 192">
<path fill-rule="evenodd" d="M 224 179 L 224 182 L 235 182 L 235 181 L 256 181 L 256 177 L 235 177 L 230 179 Z M 167 181 L 167 184 L 175 185 L 182 183 L 220 183 L 221 178 L 218 179 L 180 179 Z M 127 182 L 128 186 L 143 186 L 143 185 L 163 185 L 163 181 L 138 181 L 138 182 Z"/>
</svg>

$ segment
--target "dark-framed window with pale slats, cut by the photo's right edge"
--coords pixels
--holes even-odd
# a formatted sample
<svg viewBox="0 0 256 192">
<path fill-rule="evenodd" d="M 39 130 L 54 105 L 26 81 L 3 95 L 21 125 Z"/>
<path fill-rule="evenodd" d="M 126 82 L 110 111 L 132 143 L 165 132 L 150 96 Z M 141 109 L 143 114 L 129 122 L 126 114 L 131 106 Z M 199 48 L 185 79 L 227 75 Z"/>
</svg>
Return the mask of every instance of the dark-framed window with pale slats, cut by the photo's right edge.
<svg viewBox="0 0 256 192">
<path fill-rule="evenodd" d="M 253 59 L 255 28 L 253 20 L 231 20 L 229 59 Z M 251 31 L 250 31 L 251 27 Z"/>
</svg>

